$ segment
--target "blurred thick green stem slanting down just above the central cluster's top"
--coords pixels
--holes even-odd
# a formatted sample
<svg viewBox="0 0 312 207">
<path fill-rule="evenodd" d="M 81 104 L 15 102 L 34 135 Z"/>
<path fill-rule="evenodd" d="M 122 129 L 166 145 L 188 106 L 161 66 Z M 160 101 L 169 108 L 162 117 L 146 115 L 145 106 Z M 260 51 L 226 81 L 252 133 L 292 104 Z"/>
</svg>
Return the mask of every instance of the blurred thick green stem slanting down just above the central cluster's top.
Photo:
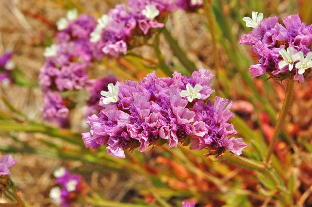
<svg viewBox="0 0 312 207">
<path fill-rule="evenodd" d="M 161 30 L 161 32 L 165 36 L 167 42 L 169 43 L 170 48 L 173 51 L 173 54 L 180 61 L 180 63 L 184 66 L 184 68 L 186 68 L 187 71 L 190 72 L 190 74 L 193 71 L 197 70 L 195 64 L 189 60 L 189 58 L 186 55 L 186 52 L 179 46 L 178 42 L 173 38 L 173 36 L 170 34 L 167 28 L 164 27 Z"/>
</svg>

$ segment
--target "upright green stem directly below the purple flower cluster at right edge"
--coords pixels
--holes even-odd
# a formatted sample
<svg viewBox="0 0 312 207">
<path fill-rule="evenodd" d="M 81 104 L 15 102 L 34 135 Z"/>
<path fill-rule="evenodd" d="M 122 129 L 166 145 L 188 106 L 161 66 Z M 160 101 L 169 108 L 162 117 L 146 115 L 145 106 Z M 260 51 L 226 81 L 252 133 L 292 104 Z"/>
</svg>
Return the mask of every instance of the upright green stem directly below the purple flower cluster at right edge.
<svg viewBox="0 0 312 207">
<path fill-rule="evenodd" d="M 267 155 L 267 159 L 266 159 L 266 163 L 269 163 L 271 155 L 273 153 L 273 149 L 274 149 L 274 145 L 275 142 L 278 138 L 278 135 L 282 129 L 282 126 L 284 124 L 287 112 L 289 110 L 289 107 L 292 103 L 292 91 L 293 91 L 293 84 L 294 81 L 292 79 L 289 79 L 287 82 L 287 88 L 286 88 L 286 94 L 285 94 L 285 99 L 283 102 L 283 106 L 282 106 L 282 110 L 279 114 L 278 120 L 276 122 L 276 126 L 273 132 L 273 136 L 270 142 L 270 146 L 269 146 L 269 151 L 268 151 L 268 155 Z"/>
</svg>

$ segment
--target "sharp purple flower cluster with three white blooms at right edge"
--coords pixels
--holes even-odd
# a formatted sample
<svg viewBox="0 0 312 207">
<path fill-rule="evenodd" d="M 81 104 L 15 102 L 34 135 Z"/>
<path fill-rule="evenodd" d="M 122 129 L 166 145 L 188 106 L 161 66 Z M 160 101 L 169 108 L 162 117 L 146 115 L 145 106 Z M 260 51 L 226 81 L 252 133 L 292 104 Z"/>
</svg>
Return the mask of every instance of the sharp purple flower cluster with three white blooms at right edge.
<svg viewBox="0 0 312 207">
<path fill-rule="evenodd" d="M 301 22 L 299 15 L 284 17 L 284 26 L 278 16 L 263 18 L 253 12 L 253 18 L 244 17 L 254 29 L 241 36 L 239 43 L 252 45 L 259 64 L 250 66 L 253 77 L 268 72 L 273 78 L 293 78 L 303 82 L 312 67 L 312 25 Z"/>
</svg>

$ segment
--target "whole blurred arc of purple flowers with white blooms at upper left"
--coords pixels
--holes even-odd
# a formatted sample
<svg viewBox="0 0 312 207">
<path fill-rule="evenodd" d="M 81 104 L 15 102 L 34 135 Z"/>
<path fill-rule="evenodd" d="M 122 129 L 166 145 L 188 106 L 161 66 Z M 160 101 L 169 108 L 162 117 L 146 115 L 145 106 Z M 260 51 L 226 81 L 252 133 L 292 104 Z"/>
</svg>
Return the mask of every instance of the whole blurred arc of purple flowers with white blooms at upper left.
<svg viewBox="0 0 312 207">
<path fill-rule="evenodd" d="M 202 1 L 191 0 L 187 4 L 195 8 Z M 105 55 L 118 57 L 120 53 L 126 54 L 129 48 L 141 45 L 151 35 L 151 28 L 164 26 L 167 13 L 178 8 L 179 3 L 176 4 L 174 0 L 128 0 L 127 5 L 116 5 L 98 21 L 86 14 L 78 15 L 76 9 L 68 11 L 66 17 L 59 19 L 58 44 L 46 48 L 46 62 L 39 73 L 45 120 L 64 126 L 68 122 L 69 106 L 57 93 L 106 87 L 105 84 L 97 86 L 99 82 L 96 80 L 89 80 L 87 70 L 92 60 L 101 60 Z M 95 88 L 92 89 L 94 84 Z M 56 97 L 56 100 L 51 100 L 52 97 Z M 94 100 L 88 103 L 89 106 L 91 102 Z M 86 114 L 97 107 L 88 107 Z"/>
</svg>

